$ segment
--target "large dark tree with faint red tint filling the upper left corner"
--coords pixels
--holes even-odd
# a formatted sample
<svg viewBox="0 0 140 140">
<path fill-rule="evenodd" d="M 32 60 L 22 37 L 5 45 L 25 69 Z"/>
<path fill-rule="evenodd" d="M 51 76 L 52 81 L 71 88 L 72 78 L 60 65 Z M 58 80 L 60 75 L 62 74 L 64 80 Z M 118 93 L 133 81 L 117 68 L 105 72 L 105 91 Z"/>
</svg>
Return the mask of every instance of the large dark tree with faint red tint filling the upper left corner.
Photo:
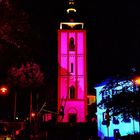
<svg viewBox="0 0 140 140">
<path fill-rule="evenodd" d="M 11 65 L 38 59 L 39 41 L 20 1 L 0 0 L 0 79 L 6 78 Z"/>
</svg>

